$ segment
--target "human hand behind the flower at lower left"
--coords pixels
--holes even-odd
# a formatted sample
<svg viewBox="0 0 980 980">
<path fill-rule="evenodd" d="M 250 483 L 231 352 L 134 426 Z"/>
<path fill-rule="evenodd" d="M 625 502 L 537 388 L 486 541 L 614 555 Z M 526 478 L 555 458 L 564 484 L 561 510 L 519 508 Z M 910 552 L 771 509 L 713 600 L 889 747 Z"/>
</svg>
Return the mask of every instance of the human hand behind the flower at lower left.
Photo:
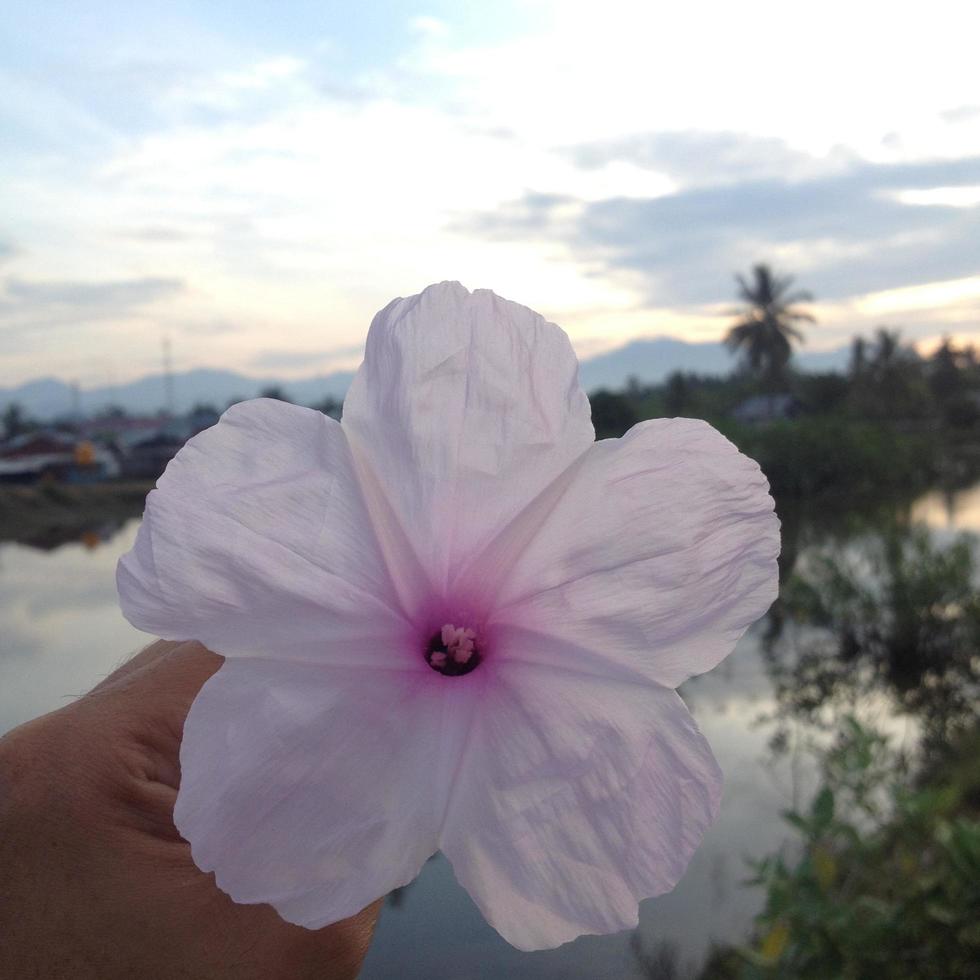
<svg viewBox="0 0 980 980">
<path fill-rule="evenodd" d="M 184 719 L 221 663 L 154 643 L 0 739 L 0 976 L 357 975 L 380 900 L 324 929 L 290 925 L 232 902 L 174 827 Z"/>
</svg>

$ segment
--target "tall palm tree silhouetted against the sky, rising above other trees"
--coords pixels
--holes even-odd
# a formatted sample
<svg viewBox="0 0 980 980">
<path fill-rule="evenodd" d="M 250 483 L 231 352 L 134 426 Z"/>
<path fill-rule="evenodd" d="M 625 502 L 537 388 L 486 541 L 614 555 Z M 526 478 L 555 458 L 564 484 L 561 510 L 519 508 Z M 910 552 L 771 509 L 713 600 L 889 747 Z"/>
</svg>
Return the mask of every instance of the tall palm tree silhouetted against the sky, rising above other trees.
<svg viewBox="0 0 980 980">
<path fill-rule="evenodd" d="M 803 334 L 794 325 L 802 320 L 815 322 L 811 314 L 794 303 L 810 303 L 813 297 L 805 290 L 789 292 L 792 276 L 776 276 L 767 265 L 752 269 L 753 281 L 738 280 L 739 298 L 745 307 L 736 311 L 740 317 L 725 337 L 732 351 L 741 353 L 749 370 L 776 385 L 784 379 L 793 344 L 803 342 Z"/>
</svg>

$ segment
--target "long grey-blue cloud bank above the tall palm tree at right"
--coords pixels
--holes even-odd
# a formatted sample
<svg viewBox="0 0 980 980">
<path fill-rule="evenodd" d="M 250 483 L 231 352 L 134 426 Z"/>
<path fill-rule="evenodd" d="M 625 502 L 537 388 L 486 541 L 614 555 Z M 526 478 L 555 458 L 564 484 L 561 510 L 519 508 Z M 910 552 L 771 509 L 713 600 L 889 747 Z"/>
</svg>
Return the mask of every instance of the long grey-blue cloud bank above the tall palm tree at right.
<svg viewBox="0 0 980 980">
<path fill-rule="evenodd" d="M 776 141 L 750 140 L 743 153 L 731 134 L 715 134 L 700 145 L 723 152 L 700 167 L 696 145 L 688 135 L 673 148 L 651 138 L 620 145 L 625 156 L 616 157 L 615 148 L 607 146 L 593 148 L 593 156 L 586 153 L 583 160 L 593 166 L 625 157 L 645 159 L 678 173 L 690 163 L 695 183 L 676 193 L 596 201 L 528 193 L 494 212 L 472 216 L 465 225 L 498 240 L 535 236 L 560 242 L 601 273 L 638 279 L 654 306 L 728 299 L 732 273 L 757 261 L 797 273 L 822 299 L 976 272 L 980 206 L 912 204 L 899 200 L 899 194 L 978 185 L 980 157 L 903 164 L 854 161 L 839 172 L 790 179 L 767 168 L 782 159 L 805 170 L 806 161 Z M 741 159 L 747 178 L 731 180 L 726 158 Z M 715 183 L 700 183 L 712 175 Z"/>
</svg>

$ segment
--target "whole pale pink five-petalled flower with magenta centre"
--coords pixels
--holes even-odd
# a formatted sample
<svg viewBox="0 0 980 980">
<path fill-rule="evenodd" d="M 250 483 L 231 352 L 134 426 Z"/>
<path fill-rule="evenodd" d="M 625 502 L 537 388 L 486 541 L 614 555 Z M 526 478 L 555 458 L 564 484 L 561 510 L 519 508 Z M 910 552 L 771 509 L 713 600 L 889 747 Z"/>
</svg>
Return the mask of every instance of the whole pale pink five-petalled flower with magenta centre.
<svg viewBox="0 0 980 980">
<path fill-rule="evenodd" d="M 710 426 L 594 442 L 568 338 L 458 283 L 371 325 L 343 422 L 258 399 L 177 454 L 123 612 L 227 659 L 174 819 L 317 928 L 436 850 L 521 949 L 634 926 L 721 776 L 676 688 L 776 594 L 759 467 Z"/>
</svg>

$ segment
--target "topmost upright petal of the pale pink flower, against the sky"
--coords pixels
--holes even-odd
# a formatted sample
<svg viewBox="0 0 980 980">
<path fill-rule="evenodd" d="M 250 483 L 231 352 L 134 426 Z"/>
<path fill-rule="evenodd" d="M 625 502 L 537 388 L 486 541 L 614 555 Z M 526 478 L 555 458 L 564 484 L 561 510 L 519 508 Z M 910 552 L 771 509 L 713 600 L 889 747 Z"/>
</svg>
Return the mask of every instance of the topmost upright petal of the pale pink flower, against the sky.
<svg viewBox="0 0 980 980">
<path fill-rule="evenodd" d="M 343 426 L 439 586 L 594 439 L 564 332 L 459 283 L 374 318 Z"/>
</svg>

